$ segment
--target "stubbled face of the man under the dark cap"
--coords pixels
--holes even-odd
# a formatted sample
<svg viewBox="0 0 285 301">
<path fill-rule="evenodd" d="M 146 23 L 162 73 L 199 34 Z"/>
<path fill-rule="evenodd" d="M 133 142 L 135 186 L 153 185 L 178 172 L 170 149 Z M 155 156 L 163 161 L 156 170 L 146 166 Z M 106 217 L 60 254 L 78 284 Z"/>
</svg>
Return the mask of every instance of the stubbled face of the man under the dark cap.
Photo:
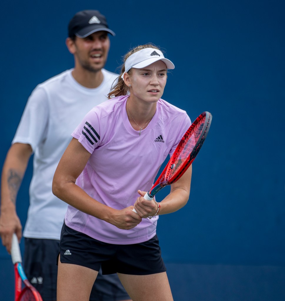
<svg viewBox="0 0 285 301">
<path fill-rule="evenodd" d="M 106 64 L 109 49 L 108 33 L 98 31 L 83 39 L 76 37 L 71 43 L 70 52 L 75 57 L 75 67 L 78 66 L 90 72 L 98 72 Z"/>
</svg>

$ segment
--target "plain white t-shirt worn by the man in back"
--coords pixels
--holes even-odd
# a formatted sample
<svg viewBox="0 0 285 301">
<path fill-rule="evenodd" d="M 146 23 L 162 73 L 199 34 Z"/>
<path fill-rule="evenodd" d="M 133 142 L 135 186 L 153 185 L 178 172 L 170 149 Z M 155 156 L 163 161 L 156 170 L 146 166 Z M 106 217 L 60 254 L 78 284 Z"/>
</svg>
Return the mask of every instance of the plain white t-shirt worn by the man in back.
<svg viewBox="0 0 285 301">
<path fill-rule="evenodd" d="M 55 169 L 72 139 L 73 130 L 91 108 L 107 100 L 118 76 L 103 69 L 103 82 L 98 88 L 90 89 L 73 78 L 72 70 L 34 89 L 12 141 L 30 144 L 34 152 L 24 237 L 60 239 L 67 204 L 52 193 Z"/>
</svg>

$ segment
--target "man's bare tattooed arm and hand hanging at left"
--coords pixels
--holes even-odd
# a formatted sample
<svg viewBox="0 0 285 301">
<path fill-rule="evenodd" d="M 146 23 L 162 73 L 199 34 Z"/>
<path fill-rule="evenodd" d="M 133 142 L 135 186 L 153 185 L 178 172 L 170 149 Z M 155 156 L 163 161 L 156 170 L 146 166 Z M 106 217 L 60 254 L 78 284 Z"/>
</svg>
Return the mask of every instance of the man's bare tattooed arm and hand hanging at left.
<svg viewBox="0 0 285 301">
<path fill-rule="evenodd" d="M 2 169 L 0 235 L 8 253 L 11 250 L 12 234 L 22 236 L 22 225 L 16 212 L 16 198 L 24 177 L 32 147 L 29 144 L 11 145 Z"/>
</svg>

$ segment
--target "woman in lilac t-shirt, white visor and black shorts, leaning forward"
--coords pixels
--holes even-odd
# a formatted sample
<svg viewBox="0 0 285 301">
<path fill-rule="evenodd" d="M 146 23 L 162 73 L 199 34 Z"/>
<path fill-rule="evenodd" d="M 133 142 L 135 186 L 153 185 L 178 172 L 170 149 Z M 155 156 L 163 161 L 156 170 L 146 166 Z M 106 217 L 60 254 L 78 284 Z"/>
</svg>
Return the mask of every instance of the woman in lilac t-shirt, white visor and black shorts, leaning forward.
<svg viewBox="0 0 285 301">
<path fill-rule="evenodd" d="M 134 48 L 110 99 L 72 133 L 53 180 L 53 193 L 69 204 L 57 301 L 88 301 L 100 266 L 118 273 L 134 301 L 173 300 L 156 224 L 187 203 L 191 166 L 163 200 L 143 198 L 191 125 L 185 111 L 161 99 L 168 69 L 174 64 L 158 47 Z"/>
</svg>

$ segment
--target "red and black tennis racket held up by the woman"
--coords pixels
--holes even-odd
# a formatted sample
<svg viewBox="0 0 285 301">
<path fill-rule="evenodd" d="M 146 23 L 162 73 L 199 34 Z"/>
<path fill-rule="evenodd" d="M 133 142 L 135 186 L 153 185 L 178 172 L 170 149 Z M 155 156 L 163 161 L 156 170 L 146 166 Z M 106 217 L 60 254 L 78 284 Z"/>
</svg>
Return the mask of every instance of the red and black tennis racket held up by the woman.
<svg viewBox="0 0 285 301">
<path fill-rule="evenodd" d="M 176 182 L 184 174 L 200 151 L 209 132 L 211 122 L 212 114 L 203 112 L 191 124 L 163 172 L 153 184 L 153 187 L 144 195 L 145 200 L 153 200 L 153 197 L 160 189 Z"/>
</svg>

